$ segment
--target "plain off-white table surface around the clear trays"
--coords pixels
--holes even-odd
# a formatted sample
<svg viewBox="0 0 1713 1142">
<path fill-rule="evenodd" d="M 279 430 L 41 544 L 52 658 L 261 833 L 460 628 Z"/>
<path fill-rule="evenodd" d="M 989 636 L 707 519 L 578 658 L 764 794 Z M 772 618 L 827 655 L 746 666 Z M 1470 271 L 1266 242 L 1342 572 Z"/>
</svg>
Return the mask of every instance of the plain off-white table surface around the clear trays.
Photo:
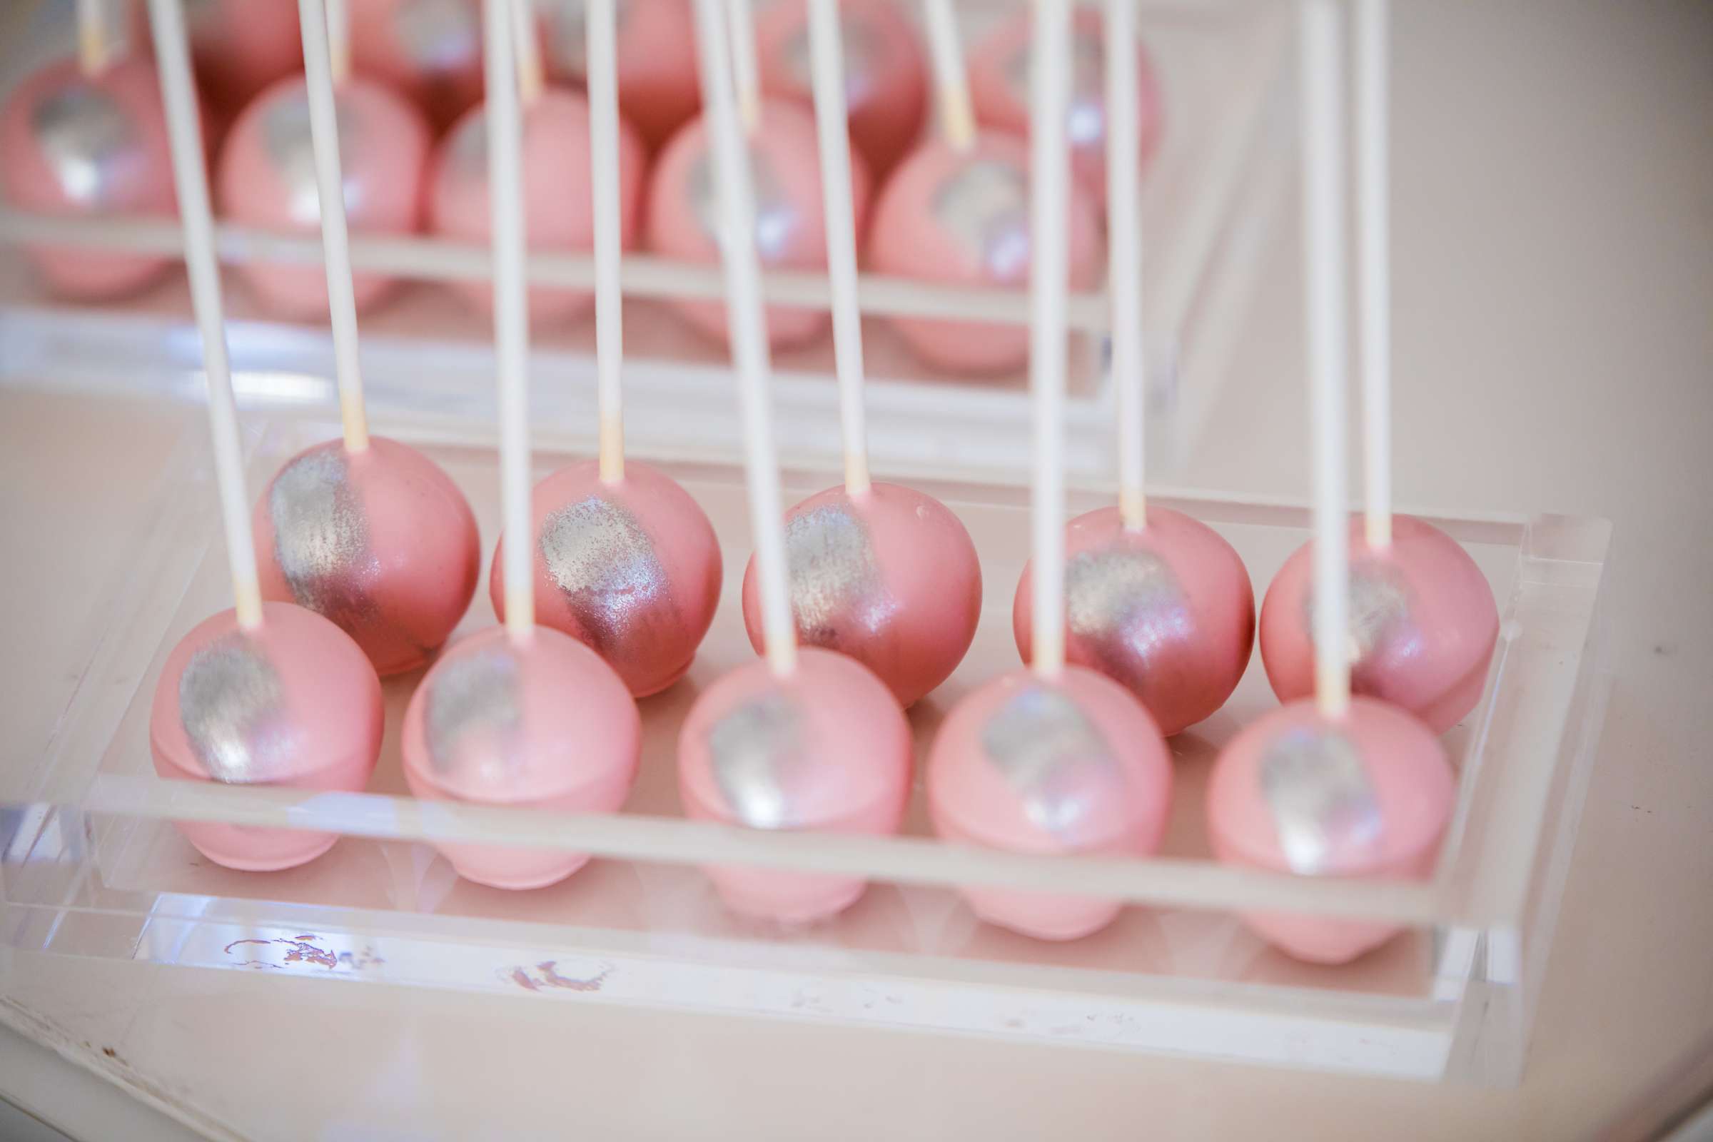
<svg viewBox="0 0 1713 1142">
<path fill-rule="evenodd" d="M 0 1092 L 132 1139 L 183 1130 L 151 1108 L 245 1139 L 1644 1127 L 1713 1050 L 1713 7 L 1413 0 L 1394 26 L 1400 500 L 1617 524 L 1615 692 L 1519 1089 L 0 949 L 21 1032 L 0 1036 Z M 1191 483 L 1305 490 L 1292 259 L 1286 240 Z M 197 416 L 0 392 L 0 724 L 21 755 L 75 666 L 63 622 L 101 582 L 101 529 Z M 9 1115 L 9 1137 L 55 1137 Z"/>
</svg>

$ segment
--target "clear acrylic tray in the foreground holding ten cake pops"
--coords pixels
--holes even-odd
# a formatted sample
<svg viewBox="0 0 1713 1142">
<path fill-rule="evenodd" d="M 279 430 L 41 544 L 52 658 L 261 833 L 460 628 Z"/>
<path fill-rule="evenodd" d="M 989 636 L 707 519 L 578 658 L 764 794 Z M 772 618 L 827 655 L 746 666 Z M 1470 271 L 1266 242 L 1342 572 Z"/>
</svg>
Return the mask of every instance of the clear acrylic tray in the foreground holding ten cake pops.
<svg viewBox="0 0 1713 1142">
<path fill-rule="evenodd" d="M 252 486 L 337 425 L 250 416 Z M 255 431 L 259 430 L 259 431 Z M 382 431 L 444 438 L 392 421 Z M 572 457 L 540 433 L 536 474 Z M 115 546 L 122 575 L 60 731 L 9 770 L 3 931 L 19 950 L 267 974 L 625 1002 L 904 1026 L 1014 1039 L 1418 1079 L 1514 1080 L 1603 712 L 1597 613 L 1609 527 L 1566 517 L 1434 517 L 1501 601 L 1502 635 L 1480 705 L 1446 743 L 1459 800 L 1427 883 L 1281 877 L 1213 863 L 1203 782 L 1220 745 L 1274 704 L 1259 657 L 1220 714 L 1172 740 L 1177 786 L 1161 854 L 1144 861 L 1026 858 L 932 837 L 920 758 L 944 712 L 1016 664 L 1011 594 L 1026 558 L 1026 490 L 916 478 L 970 527 L 985 599 L 975 647 L 911 712 L 916 781 L 904 836 L 762 834 L 683 820 L 673 750 L 697 690 L 750 661 L 738 608 L 749 558 L 742 474 L 670 462 L 723 546 L 719 613 L 689 678 L 646 699 L 641 776 L 624 812 L 569 817 L 418 803 L 406 796 L 397 723 L 420 678 L 385 683 L 387 743 L 368 793 L 303 794 L 163 781 L 147 712 L 166 652 L 228 606 L 206 433 L 187 433 L 154 514 Z M 427 443 L 497 531 L 492 443 Z M 642 452 L 639 449 L 639 452 Z M 836 481 L 795 473 L 785 495 Z M 1108 502 L 1072 491 L 1072 512 Z M 1244 556 L 1257 592 L 1307 538 L 1298 505 L 1173 497 Z M 459 632 L 490 625 L 485 586 Z M 456 635 L 454 635 L 456 637 Z M 346 834 L 281 873 L 200 858 L 171 818 Z M 586 849 L 600 856 L 534 892 L 459 880 L 430 841 Z M 868 894 L 803 930 L 728 914 L 704 861 L 865 873 Z M 978 923 L 954 883 L 1091 892 L 1134 902 L 1084 940 L 1043 943 Z M 1345 967 L 1271 950 L 1233 911 L 1266 907 L 1389 919 L 1408 931 Z"/>
</svg>

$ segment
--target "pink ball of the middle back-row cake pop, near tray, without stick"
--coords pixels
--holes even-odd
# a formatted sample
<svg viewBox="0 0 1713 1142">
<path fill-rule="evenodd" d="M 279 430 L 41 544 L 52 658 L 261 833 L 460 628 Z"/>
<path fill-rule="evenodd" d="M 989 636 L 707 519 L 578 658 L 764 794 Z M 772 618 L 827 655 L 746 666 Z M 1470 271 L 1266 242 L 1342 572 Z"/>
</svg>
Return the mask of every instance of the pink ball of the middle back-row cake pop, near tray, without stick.
<svg viewBox="0 0 1713 1142">
<path fill-rule="evenodd" d="M 944 503 L 899 485 L 827 488 L 785 514 L 785 543 L 803 644 L 855 657 L 904 707 L 958 669 L 982 616 L 982 563 Z M 761 654 L 754 556 L 743 627 Z"/>
</svg>

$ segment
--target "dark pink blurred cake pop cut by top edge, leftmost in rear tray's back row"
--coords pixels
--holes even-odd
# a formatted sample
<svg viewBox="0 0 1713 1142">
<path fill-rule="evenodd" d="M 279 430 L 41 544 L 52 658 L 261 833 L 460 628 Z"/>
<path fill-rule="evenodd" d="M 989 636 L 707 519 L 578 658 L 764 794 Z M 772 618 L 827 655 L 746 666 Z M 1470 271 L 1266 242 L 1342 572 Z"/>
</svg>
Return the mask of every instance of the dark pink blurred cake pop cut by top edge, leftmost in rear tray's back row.
<svg viewBox="0 0 1713 1142">
<path fill-rule="evenodd" d="M 132 9 L 132 38 L 149 43 L 149 5 Z M 185 31 L 202 92 L 223 108 L 248 103 L 262 87 L 303 67 L 293 0 L 188 0 Z"/>
</svg>

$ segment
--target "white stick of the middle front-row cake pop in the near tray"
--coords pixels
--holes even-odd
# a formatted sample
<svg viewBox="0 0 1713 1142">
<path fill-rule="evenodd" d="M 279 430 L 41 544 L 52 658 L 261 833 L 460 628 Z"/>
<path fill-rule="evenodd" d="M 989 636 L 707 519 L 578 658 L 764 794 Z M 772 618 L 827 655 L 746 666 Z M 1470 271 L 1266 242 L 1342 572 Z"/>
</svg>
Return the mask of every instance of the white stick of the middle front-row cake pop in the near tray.
<svg viewBox="0 0 1713 1142">
<path fill-rule="evenodd" d="M 797 627 L 786 586 L 785 524 L 779 509 L 779 461 L 767 407 L 767 318 L 761 308 L 761 260 L 755 253 L 755 202 L 743 134 L 731 98 L 721 0 L 695 0 L 697 50 L 702 62 L 702 103 L 713 134 L 714 178 L 719 187 L 721 260 L 726 272 L 726 322 L 743 409 L 743 469 L 749 485 L 750 529 L 761 587 L 761 628 L 767 664 L 778 676 L 797 669 Z"/>
</svg>

